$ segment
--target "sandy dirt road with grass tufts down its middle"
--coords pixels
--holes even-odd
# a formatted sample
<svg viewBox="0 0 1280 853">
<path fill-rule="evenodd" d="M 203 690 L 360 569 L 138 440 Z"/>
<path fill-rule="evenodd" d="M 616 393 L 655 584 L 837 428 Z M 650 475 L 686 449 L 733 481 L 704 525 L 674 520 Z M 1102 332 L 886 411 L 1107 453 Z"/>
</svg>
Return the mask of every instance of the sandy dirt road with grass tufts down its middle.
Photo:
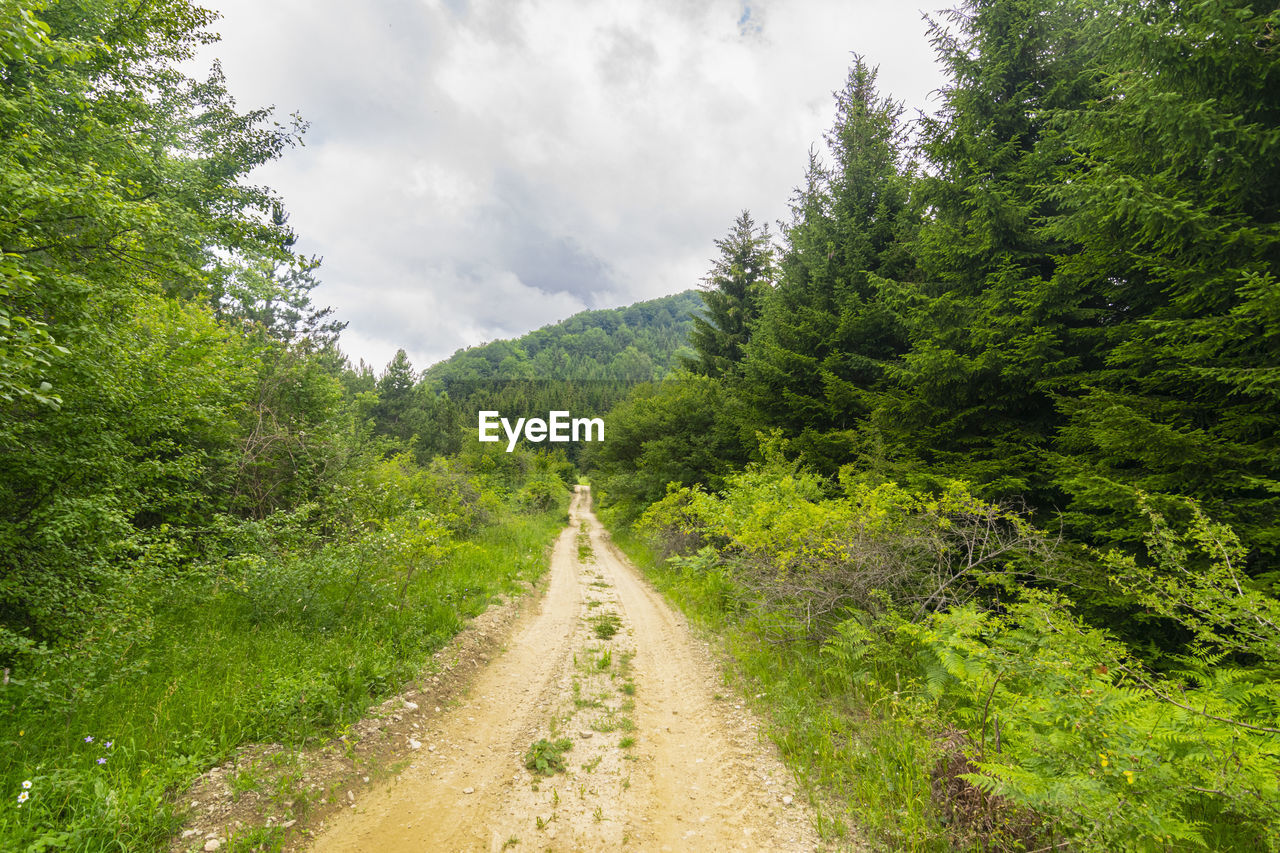
<svg viewBox="0 0 1280 853">
<path fill-rule="evenodd" d="M 507 651 L 312 850 L 817 849 L 773 745 L 588 502 L 579 487 Z M 562 739 L 563 772 L 526 770 L 535 742 Z"/>
</svg>

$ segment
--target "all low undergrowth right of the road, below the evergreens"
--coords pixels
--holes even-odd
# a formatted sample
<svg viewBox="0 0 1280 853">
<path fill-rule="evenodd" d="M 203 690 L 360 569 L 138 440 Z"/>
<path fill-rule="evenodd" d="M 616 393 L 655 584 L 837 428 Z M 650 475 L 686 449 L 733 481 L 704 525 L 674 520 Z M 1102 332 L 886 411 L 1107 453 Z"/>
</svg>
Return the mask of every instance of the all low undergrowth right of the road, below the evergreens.
<svg viewBox="0 0 1280 853">
<path fill-rule="evenodd" d="M 616 540 L 723 638 L 826 836 L 856 827 L 893 850 L 1280 850 L 1280 603 L 1239 573 L 1229 528 L 1188 502 L 1174 529 L 1139 494 L 1149 562 L 1080 557 L 1194 638 L 1156 670 L 1044 583 L 1042 534 L 963 485 L 771 501 L 785 476 L 753 473 L 723 498 L 668 494 L 646 517 L 684 537 L 684 553 L 658 561 L 626 530 Z M 695 551 L 698 538 L 716 544 Z M 956 543 L 992 542 L 998 560 L 965 547 L 968 567 L 948 566 Z M 1015 583 L 1037 566 L 1039 587 Z M 946 597 L 920 606 L 920 576 L 940 574 Z"/>
</svg>

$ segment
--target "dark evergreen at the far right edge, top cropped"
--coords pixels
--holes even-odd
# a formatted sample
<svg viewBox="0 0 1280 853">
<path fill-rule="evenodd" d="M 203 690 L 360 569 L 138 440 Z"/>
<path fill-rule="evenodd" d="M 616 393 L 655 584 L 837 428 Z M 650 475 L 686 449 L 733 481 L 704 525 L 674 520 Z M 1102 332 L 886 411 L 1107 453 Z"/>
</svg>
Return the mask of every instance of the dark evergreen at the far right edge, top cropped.
<svg viewBox="0 0 1280 853">
<path fill-rule="evenodd" d="M 1129 489 L 1189 494 L 1280 555 L 1280 10 L 1102 4 L 1101 96 L 1056 123 L 1075 156 L 1055 236 L 1098 295 L 1103 361 L 1055 457 L 1069 520 L 1134 539 Z M 1106 19 L 1103 26 L 1102 19 Z"/>
</svg>

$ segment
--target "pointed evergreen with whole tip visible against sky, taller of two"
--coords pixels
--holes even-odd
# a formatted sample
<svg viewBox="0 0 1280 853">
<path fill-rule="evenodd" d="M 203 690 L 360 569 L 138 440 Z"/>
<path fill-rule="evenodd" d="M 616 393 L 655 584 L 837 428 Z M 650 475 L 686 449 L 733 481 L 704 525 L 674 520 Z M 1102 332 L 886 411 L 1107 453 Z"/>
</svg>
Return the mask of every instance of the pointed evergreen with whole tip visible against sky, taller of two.
<svg viewBox="0 0 1280 853">
<path fill-rule="evenodd" d="M 883 298 L 914 268 L 908 246 L 918 215 L 901 113 L 856 58 L 836 93 L 831 165 L 810 151 L 778 283 L 746 347 L 742 389 L 762 425 L 801 437 L 801 451 L 824 470 L 855 452 L 854 430 L 877 405 L 884 364 L 905 347 Z"/>
</svg>

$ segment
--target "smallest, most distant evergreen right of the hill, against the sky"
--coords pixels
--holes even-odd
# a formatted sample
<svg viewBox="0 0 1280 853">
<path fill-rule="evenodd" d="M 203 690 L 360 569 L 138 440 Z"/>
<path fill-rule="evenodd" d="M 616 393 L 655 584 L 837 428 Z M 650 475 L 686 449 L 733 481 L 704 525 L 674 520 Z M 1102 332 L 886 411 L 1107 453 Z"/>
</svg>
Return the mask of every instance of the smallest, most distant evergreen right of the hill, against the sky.
<svg viewBox="0 0 1280 853">
<path fill-rule="evenodd" d="M 705 313 L 692 316 L 689 343 L 696 352 L 685 366 L 707 377 L 722 377 L 742 360 L 764 291 L 773 282 L 773 241 L 769 227 L 756 227 L 744 210 L 728 234 L 716 241 L 721 256 L 703 279 Z"/>
</svg>

